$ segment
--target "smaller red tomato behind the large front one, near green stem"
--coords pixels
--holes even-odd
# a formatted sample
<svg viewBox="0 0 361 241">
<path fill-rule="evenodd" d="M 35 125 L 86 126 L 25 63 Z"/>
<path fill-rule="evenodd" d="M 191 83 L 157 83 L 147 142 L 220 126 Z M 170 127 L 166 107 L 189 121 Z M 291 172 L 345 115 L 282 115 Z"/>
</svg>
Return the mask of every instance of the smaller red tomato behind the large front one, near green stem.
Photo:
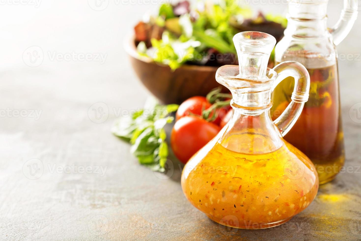
<svg viewBox="0 0 361 241">
<path fill-rule="evenodd" d="M 202 111 L 212 106 L 211 103 L 203 96 L 193 96 L 185 100 L 179 107 L 175 114 L 175 119 L 179 120 L 183 116 L 197 115 L 201 116 Z"/>
</svg>

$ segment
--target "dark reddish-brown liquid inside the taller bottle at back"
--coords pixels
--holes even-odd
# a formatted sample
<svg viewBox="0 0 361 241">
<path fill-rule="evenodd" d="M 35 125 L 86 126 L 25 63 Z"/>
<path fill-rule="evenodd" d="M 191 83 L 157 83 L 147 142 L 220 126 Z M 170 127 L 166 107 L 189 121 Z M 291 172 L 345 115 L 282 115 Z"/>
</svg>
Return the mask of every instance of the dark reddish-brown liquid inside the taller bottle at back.
<svg viewBox="0 0 361 241">
<path fill-rule="evenodd" d="M 300 118 L 284 139 L 297 147 L 315 164 L 319 183 L 331 181 L 345 161 L 337 64 L 308 69 L 310 96 Z M 272 94 L 273 120 L 291 102 L 294 79 L 284 79 Z"/>
</svg>

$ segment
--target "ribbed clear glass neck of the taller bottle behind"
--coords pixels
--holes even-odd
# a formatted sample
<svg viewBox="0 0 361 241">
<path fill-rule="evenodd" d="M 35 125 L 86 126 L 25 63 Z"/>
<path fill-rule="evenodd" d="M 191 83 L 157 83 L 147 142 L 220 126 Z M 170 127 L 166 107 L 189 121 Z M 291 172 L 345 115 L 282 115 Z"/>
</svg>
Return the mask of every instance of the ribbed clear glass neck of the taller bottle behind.
<svg viewBox="0 0 361 241">
<path fill-rule="evenodd" d="M 295 38 L 320 38 L 328 35 L 327 3 L 327 1 L 301 3 L 300 0 L 290 2 L 288 24 L 284 35 Z"/>
</svg>

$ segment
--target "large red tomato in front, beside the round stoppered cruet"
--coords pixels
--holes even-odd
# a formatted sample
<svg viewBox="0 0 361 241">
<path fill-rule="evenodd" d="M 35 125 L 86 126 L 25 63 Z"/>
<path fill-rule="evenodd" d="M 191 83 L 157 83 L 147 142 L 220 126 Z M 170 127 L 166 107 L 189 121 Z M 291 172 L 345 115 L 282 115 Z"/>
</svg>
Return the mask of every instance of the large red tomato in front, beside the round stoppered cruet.
<svg viewBox="0 0 361 241">
<path fill-rule="evenodd" d="M 221 128 L 197 116 L 184 116 L 175 122 L 170 145 L 179 160 L 187 163 L 199 149 L 215 137 Z"/>
</svg>

